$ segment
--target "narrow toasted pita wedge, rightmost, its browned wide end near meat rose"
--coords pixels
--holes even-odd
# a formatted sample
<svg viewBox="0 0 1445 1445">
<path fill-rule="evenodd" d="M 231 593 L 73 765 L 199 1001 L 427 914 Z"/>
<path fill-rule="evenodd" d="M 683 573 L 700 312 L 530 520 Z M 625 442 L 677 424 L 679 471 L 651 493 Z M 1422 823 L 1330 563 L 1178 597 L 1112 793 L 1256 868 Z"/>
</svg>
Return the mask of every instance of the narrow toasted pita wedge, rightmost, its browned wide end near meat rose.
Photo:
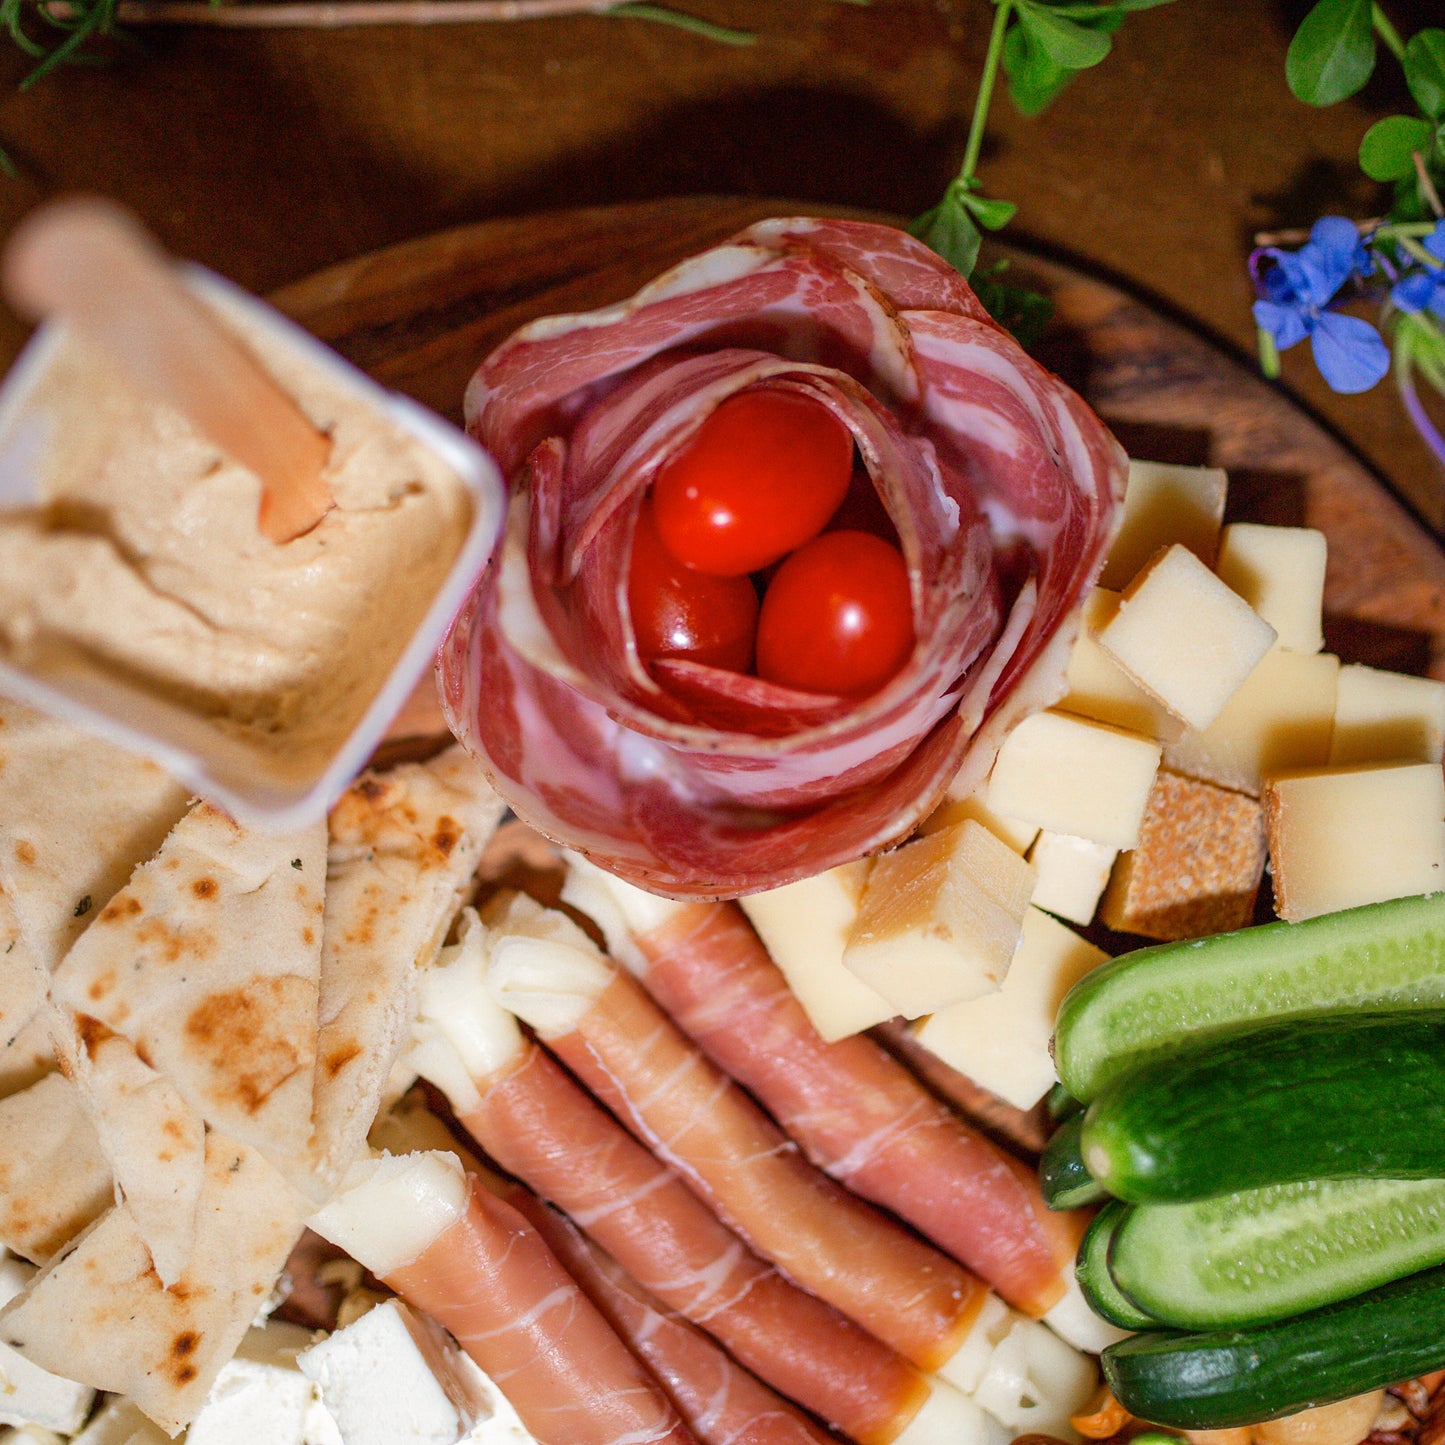
<svg viewBox="0 0 1445 1445">
<path fill-rule="evenodd" d="M 460 747 L 366 773 L 332 809 L 305 1183 L 316 1199 L 366 1146 L 410 1033 L 419 970 L 436 957 L 504 811 Z"/>
</svg>

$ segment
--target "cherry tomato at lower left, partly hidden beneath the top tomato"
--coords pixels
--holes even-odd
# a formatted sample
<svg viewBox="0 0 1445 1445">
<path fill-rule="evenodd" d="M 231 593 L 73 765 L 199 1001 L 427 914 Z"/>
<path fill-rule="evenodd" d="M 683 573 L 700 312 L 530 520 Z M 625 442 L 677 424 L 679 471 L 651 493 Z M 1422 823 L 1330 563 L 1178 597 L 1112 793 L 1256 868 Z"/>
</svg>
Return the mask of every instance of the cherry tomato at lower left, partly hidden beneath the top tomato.
<svg viewBox="0 0 1445 1445">
<path fill-rule="evenodd" d="M 683 566 L 657 535 L 652 503 L 637 514 L 627 605 L 642 660 L 686 657 L 747 672 L 757 631 L 757 592 L 746 577 Z"/>
</svg>

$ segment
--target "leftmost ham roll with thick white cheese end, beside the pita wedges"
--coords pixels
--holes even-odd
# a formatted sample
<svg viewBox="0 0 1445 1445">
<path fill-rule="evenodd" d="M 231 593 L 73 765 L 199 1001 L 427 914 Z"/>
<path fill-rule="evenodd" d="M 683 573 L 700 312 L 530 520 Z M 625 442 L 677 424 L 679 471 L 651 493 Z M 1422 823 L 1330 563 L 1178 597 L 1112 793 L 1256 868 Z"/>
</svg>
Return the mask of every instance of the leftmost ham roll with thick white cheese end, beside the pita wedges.
<svg viewBox="0 0 1445 1445">
<path fill-rule="evenodd" d="M 312 1224 L 445 1325 L 542 1445 L 698 1445 L 540 1235 L 454 1155 L 366 1160 Z"/>
</svg>

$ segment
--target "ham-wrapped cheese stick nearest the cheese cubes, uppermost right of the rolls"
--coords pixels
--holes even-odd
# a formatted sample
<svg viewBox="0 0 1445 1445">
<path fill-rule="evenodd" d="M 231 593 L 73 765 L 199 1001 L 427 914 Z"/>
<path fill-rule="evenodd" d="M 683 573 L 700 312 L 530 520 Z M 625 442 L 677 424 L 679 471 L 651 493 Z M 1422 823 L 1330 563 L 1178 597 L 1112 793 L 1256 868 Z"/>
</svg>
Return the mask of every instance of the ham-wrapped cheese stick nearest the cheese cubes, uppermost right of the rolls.
<svg viewBox="0 0 1445 1445">
<path fill-rule="evenodd" d="M 1032 1169 L 871 1039 L 825 1042 L 737 905 L 665 903 L 587 864 L 565 896 L 603 922 L 614 957 L 814 1163 L 1017 1309 L 1039 1316 L 1064 1298 L 1082 1220 L 1051 1212 Z"/>
</svg>

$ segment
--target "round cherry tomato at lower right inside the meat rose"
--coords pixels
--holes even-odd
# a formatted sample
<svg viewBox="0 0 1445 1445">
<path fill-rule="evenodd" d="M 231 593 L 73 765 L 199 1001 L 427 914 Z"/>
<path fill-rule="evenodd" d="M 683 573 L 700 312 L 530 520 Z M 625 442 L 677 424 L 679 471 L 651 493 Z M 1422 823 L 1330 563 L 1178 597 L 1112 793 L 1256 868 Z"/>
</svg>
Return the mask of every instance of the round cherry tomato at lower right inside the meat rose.
<svg viewBox="0 0 1445 1445">
<path fill-rule="evenodd" d="M 868 532 L 825 532 L 777 569 L 757 620 L 757 675 L 802 692 L 876 692 L 913 650 L 907 565 Z"/>
</svg>

